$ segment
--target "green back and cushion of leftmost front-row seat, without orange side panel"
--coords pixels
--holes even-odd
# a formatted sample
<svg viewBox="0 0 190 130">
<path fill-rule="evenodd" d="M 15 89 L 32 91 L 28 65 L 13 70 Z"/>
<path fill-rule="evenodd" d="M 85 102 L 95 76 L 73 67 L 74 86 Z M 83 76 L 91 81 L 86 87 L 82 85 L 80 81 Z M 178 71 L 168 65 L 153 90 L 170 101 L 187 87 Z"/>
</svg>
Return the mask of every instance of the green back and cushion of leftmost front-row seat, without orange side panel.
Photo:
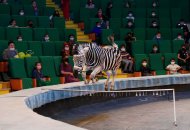
<svg viewBox="0 0 190 130">
<path fill-rule="evenodd" d="M 11 78 L 22 79 L 22 88 L 32 88 L 32 79 L 27 77 L 24 59 L 9 59 L 9 70 Z"/>
</svg>

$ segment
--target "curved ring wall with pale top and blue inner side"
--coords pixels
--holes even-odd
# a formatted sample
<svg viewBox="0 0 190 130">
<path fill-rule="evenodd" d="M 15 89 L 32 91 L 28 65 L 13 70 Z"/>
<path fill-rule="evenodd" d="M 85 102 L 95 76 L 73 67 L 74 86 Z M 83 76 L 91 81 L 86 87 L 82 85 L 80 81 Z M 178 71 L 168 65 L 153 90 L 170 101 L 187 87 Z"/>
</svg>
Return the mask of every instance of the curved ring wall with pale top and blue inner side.
<svg viewBox="0 0 190 130">
<path fill-rule="evenodd" d="M 117 79 L 115 81 L 115 90 L 126 90 L 136 88 L 164 88 L 168 85 L 187 85 L 190 84 L 190 74 L 184 75 L 164 75 L 155 77 L 138 77 Z M 0 96 L 0 130 L 82 130 L 74 125 L 65 122 L 53 120 L 42 116 L 33 111 L 33 109 L 53 103 L 63 99 L 70 99 L 77 96 L 84 96 L 89 93 L 62 91 L 86 90 L 86 91 L 104 91 L 104 80 L 96 84 L 84 85 L 83 82 L 54 85 L 40 88 L 33 88 L 13 92 Z M 171 109 L 172 110 L 172 109 Z M 171 119 L 172 122 L 172 119 Z M 189 124 L 188 124 L 189 125 Z M 189 128 L 189 126 L 188 126 Z M 127 128 L 126 128 L 127 130 Z"/>
</svg>

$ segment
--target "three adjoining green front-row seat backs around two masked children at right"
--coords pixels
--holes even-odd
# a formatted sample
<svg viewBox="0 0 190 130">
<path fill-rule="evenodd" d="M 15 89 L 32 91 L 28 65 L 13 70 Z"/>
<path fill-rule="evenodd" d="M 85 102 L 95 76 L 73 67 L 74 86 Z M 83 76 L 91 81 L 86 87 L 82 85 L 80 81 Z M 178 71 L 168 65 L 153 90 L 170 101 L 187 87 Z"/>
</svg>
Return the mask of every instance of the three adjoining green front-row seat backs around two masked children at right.
<svg viewBox="0 0 190 130">
<path fill-rule="evenodd" d="M 148 61 L 148 64 L 152 71 L 156 71 L 156 75 L 165 75 L 166 66 L 170 64 L 170 60 L 174 58 L 177 62 L 176 53 L 164 53 L 164 54 L 136 54 L 135 59 L 135 71 L 140 71 L 141 63 L 143 59 Z"/>
</svg>

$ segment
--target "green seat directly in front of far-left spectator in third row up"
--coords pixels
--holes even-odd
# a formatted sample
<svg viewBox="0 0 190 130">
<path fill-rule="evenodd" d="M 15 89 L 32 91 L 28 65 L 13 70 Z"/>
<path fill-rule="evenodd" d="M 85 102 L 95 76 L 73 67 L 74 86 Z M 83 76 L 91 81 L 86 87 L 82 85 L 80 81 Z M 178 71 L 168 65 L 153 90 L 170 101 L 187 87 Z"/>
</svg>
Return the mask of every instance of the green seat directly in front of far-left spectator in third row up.
<svg viewBox="0 0 190 130">
<path fill-rule="evenodd" d="M 6 36 L 8 40 L 17 40 L 19 28 L 6 28 Z"/>
</svg>

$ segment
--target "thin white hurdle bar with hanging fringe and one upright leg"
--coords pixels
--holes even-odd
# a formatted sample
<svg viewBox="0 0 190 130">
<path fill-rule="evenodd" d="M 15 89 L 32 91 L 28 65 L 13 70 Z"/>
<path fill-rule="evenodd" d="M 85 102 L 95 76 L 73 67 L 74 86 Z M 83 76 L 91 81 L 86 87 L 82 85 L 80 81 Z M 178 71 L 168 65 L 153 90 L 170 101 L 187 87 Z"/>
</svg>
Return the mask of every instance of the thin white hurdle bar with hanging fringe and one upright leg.
<svg viewBox="0 0 190 130">
<path fill-rule="evenodd" d="M 173 114 L 174 114 L 174 125 L 177 126 L 177 117 L 176 117 L 176 99 L 175 99 L 175 89 L 149 89 L 149 90 L 120 90 L 120 91 L 98 91 L 98 90 L 73 90 L 73 89 L 43 89 L 42 90 L 52 90 L 52 91 L 67 91 L 70 92 L 69 94 L 72 95 L 73 93 L 80 93 L 80 96 L 83 95 L 90 95 L 93 96 L 95 93 L 103 93 L 106 94 L 106 96 L 110 94 L 110 96 L 113 96 L 114 93 L 122 94 L 125 93 L 126 95 L 128 93 L 136 93 L 136 96 L 144 96 L 147 92 L 152 92 L 153 96 L 159 95 L 158 92 L 163 92 L 163 95 L 165 95 L 165 92 L 169 93 L 169 91 L 172 91 L 173 94 Z M 156 93 L 155 93 L 156 92 Z M 75 94 L 73 94 L 75 95 Z"/>
</svg>

